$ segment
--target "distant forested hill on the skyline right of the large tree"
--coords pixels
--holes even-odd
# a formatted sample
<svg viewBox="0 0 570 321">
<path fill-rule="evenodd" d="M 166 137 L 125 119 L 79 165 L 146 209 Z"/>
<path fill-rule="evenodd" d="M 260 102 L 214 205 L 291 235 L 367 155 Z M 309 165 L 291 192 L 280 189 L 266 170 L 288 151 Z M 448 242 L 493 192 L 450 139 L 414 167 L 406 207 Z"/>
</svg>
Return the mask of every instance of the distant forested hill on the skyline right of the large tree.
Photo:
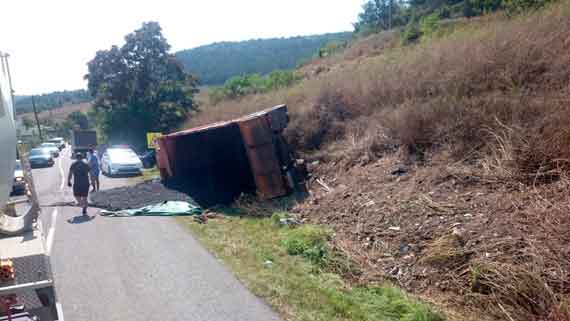
<svg viewBox="0 0 570 321">
<path fill-rule="evenodd" d="M 345 41 L 351 32 L 323 35 L 219 42 L 179 51 L 176 57 L 186 71 L 197 75 L 202 85 L 221 84 L 228 78 L 248 73 L 267 74 L 277 69 L 295 68 L 315 56 L 319 48 Z"/>
</svg>

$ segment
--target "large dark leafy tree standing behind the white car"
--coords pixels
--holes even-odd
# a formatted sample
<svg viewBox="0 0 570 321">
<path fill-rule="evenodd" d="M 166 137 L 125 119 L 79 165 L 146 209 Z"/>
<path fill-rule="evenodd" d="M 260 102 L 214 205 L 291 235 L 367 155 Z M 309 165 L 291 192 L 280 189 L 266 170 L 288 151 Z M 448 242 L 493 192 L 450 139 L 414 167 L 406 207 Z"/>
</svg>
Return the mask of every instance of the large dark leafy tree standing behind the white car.
<svg viewBox="0 0 570 321">
<path fill-rule="evenodd" d="M 98 51 L 87 64 L 93 115 L 104 137 L 139 147 L 146 132 L 171 131 L 197 108 L 196 78 L 169 50 L 160 25 L 147 22 L 122 47 Z"/>
</svg>

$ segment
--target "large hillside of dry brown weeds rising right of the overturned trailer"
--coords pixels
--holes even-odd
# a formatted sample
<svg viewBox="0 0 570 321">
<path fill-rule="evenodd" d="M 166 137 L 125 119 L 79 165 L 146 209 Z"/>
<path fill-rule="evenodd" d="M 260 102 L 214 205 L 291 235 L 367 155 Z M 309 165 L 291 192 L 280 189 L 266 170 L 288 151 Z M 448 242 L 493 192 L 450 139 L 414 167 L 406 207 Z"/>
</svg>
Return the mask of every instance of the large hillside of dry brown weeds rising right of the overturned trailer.
<svg viewBox="0 0 570 321">
<path fill-rule="evenodd" d="M 391 280 L 458 319 L 569 320 L 570 4 L 402 33 L 188 126 L 287 103 L 289 142 L 330 187 L 296 211 L 334 229 L 355 282 Z"/>
</svg>

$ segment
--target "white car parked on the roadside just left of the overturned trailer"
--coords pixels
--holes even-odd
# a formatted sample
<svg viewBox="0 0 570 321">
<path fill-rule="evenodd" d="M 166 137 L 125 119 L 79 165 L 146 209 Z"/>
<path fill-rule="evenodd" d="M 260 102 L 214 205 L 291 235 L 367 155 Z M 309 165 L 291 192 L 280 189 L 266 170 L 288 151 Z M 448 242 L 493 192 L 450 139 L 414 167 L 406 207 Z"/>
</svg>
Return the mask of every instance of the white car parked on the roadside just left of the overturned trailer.
<svg viewBox="0 0 570 321">
<path fill-rule="evenodd" d="M 142 162 L 130 148 L 107 148 L 101 157 L 101 171 L 104 175 L 141 175 Z"/>
</svg>

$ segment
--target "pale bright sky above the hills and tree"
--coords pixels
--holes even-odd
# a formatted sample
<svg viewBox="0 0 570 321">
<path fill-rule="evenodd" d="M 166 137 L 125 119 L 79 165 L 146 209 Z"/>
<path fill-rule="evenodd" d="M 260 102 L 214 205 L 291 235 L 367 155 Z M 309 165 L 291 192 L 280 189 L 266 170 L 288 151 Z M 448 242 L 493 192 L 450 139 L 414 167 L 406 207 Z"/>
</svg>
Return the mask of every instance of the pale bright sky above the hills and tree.
<svg viewBox="0 0 570 321">
<path fill-rule="evenodd" d="M 17 95 L 85 88 L 97 50 L 158 21 L 172 51 L 218 41 L 350 31 L 363 0 L 17 0 L 0 2 L 0 51 Z"/>
</svg>

